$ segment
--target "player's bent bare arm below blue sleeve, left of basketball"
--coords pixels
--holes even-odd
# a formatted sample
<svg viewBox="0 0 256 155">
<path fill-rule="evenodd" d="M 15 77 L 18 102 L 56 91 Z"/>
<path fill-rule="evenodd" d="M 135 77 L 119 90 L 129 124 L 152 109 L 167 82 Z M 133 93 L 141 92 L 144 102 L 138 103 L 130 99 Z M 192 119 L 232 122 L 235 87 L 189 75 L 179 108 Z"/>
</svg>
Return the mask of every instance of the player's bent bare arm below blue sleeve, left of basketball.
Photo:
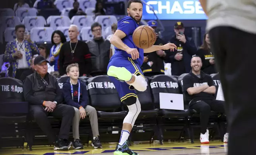
<svg viewBox="0 0 256 155">
<path fill-rule="evenodd" d="M 110 39 L 110 43 L 113 44 L 118 49 L 127 51 L 130 47 L 123 43 L 122 38 L 126 37 L 126 34 L 121 30 L 116 30 L 113 36 Z"/>
</svg>

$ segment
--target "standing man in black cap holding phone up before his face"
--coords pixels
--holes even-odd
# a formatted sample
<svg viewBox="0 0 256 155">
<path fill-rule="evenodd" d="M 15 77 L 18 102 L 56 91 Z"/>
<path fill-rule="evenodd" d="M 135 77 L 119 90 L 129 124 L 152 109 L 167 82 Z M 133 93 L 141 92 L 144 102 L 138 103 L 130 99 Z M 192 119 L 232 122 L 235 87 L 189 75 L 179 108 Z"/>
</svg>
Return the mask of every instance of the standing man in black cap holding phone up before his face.
<svg viewBox="0 0 256 155">
<path fill-rule="evenodd" d="M 196 54 L 196 45 L 192 38 L 184 35 L 184 25 L 182 22 L 175 23 L 175 36 L 170 42 L 177 46 L 174 52 L 171 52 L 169 59 L 165 62 L 171 63 L 171 72 L 173 76 L 180 76 L 183 73 L 189 73 L 191 70 L 190 60 L 192 55 Z"/>
</svg>

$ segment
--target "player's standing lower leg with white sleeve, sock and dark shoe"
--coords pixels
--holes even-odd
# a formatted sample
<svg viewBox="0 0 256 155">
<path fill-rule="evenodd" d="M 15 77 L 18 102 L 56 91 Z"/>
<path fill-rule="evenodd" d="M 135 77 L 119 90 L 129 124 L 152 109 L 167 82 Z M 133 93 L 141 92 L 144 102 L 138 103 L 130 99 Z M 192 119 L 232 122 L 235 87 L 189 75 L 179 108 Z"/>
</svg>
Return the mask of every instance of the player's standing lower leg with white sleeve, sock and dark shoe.
<svg viewBox="0 0 256 155">
<path fill-rule="evenodd" d="M 123 102 L 127 105 L 129 112 L 124 118 L 119 144 L 116 146 L 114 155 L 138 155 L 138 153 L 135 153 L 134 151 L 129 149 L 128 137 L 141 111 L 140 101 L 138 100 L 138 98 L 131 96 L 126 98 Z"/>
</svg>

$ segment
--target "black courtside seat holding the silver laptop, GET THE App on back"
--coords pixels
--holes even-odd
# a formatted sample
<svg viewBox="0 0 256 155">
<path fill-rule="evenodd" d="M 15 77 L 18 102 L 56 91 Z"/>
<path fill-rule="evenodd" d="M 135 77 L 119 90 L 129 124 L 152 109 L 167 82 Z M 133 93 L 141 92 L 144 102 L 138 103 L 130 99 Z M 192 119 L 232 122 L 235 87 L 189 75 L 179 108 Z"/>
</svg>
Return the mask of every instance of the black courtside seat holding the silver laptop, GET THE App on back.
<svg viewBox="0 0 256 155">
<path fill-rule="evenodd" d="M 150 86 L 153 95 L 153 101 L 155 108 L 160 108 L 159 104 L 159 93 L 174 93 L 180 94 L 180 86 L 178 85 L 178 80 L 174 76 L 157 75 L 151 77 Z M 159 110 L 159 115 L 163 117 L 187 117 L 190 114 L 189 110 L 184 108 L 184 110 Z"/>
</svg>

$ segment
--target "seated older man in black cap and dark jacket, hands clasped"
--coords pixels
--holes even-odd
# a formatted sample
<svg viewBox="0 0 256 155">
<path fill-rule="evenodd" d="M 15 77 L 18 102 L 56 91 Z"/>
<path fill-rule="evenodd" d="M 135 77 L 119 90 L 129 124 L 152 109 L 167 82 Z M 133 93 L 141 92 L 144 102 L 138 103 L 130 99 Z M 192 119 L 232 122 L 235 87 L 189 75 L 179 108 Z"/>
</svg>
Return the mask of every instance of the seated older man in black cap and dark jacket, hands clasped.
<svg viewBox="0 0 256 155">
<path fill-rule="evenodd" d="M 41 55 L 35 58 L 35 72 L 26 77 L 23 93 L 25 101 L 29 102 L 31 116 L 47 135 L 49 142 L 54 144 L 54 150 L 68 150 L 72 145 L 68 137 L 75 111 L 72 106 L 61 104 L 62 91 L 56 78 L 48 74 L 47 62 Z M 62 119 L 58 139 L 48 115 Z"/>
</svg>

